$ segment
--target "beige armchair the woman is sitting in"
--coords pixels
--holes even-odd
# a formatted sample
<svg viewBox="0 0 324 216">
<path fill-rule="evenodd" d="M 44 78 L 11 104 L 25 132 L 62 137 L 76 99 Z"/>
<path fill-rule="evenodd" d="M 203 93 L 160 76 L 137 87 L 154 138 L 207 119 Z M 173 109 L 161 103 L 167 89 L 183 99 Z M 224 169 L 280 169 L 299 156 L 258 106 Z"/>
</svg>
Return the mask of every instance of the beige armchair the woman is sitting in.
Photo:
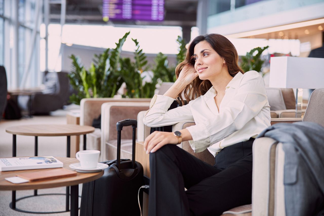
<svg viewBox="0 0 324 216">
<path fill-rule="evenodd" d="M 312 121 L 324 126 L 324 89 L 317 89 L 311 95 L 304 118 L 272 118 L 271 124 L 280 122 Z M 149 128 L 142 122 L 144 111 L 138 114 L 138 140 L 144 141 L 149 134 Z M 193 121 L 183 121 L 173 126 L 173 130 L 183 129 L 193 125 Z M 214 156 L 205 150 L 194 153 L 188 141 L 178 145 L 197 158 L 214 163 Z M 144 169 L 146 169 L 144 167 Z M 258 138 L 253 144 L 253 174 L 252 174 L 252 204 L 236 207 L 223 213 L 240 212 L 240 215 L 285 215 L 284 207 L 284 151 L 282 144 L 272 138 Z M 253 209 L 253 211 L 252 211 Z"/>
</svg>

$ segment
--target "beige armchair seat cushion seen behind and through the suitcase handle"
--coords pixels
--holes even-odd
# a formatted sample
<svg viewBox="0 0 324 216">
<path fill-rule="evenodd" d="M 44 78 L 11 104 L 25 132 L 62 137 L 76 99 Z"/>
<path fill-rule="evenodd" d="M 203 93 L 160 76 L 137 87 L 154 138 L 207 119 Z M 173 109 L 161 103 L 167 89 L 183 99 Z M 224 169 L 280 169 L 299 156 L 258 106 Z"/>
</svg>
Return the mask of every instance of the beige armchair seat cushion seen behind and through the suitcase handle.
<svg viewBox="0 0 324 216">
<path fill-rule="evenodd" d="M 121 139 L 121 158 L 132 159 L 132 139 Z M 117 139 L 106 142 L 106 158 L 107 160 L 117 159 Z"/>
</svg>

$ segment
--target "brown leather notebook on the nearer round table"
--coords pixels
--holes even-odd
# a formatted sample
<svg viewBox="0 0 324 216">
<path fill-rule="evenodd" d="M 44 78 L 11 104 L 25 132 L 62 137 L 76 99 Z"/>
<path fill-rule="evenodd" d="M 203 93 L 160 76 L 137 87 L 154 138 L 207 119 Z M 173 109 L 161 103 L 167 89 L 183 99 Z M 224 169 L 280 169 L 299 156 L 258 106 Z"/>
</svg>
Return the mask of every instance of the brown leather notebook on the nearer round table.
<svg viewBox="0 0 324 216">
<path fill-rule="evenodd" d="M 73 175 L 76 175 L 75 171 L 64 169 L 64 168 L 55 168 L 51 170 L 47 170 L 47 169 L 40 170 L 32 173 L 21 173 L 18 174 L 17 176 L 32 182 L 32 181 L 48 180 L 48 179 L 61 178 L 61 177 L 67 177 Z"/>
</svg>

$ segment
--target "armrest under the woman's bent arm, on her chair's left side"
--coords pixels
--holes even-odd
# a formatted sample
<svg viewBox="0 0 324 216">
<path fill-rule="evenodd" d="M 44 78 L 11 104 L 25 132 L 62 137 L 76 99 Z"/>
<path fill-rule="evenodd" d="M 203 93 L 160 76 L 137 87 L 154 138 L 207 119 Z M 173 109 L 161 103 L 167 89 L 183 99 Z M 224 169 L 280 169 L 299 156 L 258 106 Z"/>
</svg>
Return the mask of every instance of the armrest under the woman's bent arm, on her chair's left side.
<svg viewBox="0 0 324 216">
<path fill-rule="evenodd" d="M 182 121 L 182 122 L 179 122 L 179 123 L 173 125 L 172 131 L 181 130 L 186 127 L 192 126 L 192 125 L 195 125 L 195 122 L 193 120 Z M 208 151 L 208 149 L 206 149 L 202 152 L 195 153 L 195 152 L 193 152 L 193 150 L 189 144 L 189 141 L 183 141 L 178 146 L 180 148 L 182 148 L 183 150 L 188 151 L 190 154 L 192 154 L 196 158 L 198 158 L 210 165 L 214 165 L 214 163 L 215 163 L 215 157 Z"/>
</svg>

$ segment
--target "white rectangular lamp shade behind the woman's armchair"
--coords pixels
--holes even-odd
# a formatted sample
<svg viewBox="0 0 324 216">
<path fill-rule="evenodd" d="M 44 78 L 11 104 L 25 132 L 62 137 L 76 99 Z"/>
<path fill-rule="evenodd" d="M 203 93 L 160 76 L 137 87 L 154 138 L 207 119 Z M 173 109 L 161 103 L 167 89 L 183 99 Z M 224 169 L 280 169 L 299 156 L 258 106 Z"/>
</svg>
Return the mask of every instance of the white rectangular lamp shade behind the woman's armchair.
<svg viewBox="0 0 324 216">
<path fill-rule="evenodd" d="M 269 87 L 324 88 L 324 58 L 271 57 Z"/>
</svg>

